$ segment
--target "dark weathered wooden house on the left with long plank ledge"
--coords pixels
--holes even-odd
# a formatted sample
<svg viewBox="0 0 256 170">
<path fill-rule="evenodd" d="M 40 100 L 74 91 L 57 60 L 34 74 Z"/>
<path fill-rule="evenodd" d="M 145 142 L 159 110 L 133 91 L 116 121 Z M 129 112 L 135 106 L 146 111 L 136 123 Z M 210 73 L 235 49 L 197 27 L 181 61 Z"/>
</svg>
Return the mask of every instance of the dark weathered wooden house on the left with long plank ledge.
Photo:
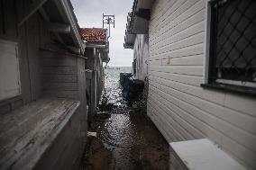
<svg viewBox="0 0 256 170">
<path fill-rule="evenodd" d="M 75 169 L 86 58 L 69 0 L 0 1 L 0 169 Z"/>
</svg>

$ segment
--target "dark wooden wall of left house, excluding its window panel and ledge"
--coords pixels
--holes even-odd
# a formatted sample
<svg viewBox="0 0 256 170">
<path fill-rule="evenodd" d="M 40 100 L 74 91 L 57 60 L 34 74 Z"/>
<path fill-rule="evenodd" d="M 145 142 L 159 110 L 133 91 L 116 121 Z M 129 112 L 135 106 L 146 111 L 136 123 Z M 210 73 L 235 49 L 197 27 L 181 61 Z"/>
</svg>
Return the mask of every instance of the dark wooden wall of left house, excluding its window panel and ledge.
<svg viewBox="0 0 256 170">
<path fill-rule="evenodd" d="M 80 101 L 69 125 L 61 131 L 53 146 L 41 157 L 41 163 L 35 167 L 73 169 L 74 165 L 79 166 L 87 139 L 86 60 L 42 50 L 52 45 L 54 37 L 44 28 L 39 13 L 34 13 L 27 22 L 17 26 L 31 2 L 0 0 L 0 39 L 18 42 L 22 85 L 21 95 L 0 101 L 0 114 L 11 112 L 42 96 Z"/>
</svg>

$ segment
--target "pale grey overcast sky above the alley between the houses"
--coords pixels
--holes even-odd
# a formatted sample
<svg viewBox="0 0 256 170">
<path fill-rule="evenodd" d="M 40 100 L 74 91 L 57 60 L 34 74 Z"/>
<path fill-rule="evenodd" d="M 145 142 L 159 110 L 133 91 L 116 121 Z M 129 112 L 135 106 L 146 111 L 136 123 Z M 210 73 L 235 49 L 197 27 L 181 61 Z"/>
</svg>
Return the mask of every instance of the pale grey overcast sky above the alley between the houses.
<svg viewBox="0 0 256 170">
<path fill-rule="evenodd" d="M 133 50 L 123 49 L 127 13 L 133 0 L 71 0 L 81 28 L 102 28 L 102 13 L 115 15 L 115 28 L 111 28 L 109 66 L 132 67 Z"/>
</svg>

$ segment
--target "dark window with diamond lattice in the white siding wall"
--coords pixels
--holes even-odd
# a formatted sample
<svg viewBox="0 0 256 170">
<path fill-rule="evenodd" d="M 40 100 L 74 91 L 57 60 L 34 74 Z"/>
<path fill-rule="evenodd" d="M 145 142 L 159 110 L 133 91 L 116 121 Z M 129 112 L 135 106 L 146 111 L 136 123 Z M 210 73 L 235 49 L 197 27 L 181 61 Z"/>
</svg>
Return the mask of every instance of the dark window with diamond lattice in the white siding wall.
<svg viewBox="0 0 256 170">
<path fill-rule="evenodd" d="M 206 83 L 256 90 L 256 1 L 207 5 Z"/>
</svg>

